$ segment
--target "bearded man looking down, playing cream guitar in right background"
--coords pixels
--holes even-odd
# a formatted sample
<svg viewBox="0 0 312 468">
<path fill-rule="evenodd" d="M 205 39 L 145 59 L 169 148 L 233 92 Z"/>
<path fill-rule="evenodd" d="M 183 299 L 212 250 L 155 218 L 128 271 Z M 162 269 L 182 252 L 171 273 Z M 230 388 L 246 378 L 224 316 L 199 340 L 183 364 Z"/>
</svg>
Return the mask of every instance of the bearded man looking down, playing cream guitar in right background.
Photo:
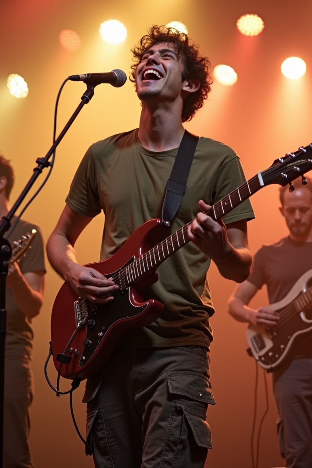
<svg viewBox="0 0 312 468">
<path fill-rule="evenodd" d="M 289 352 L 273 367 L 273 389 L 279 413 L 280 450 L 287 468 L 311 468 L 312 463 L 312 336 L 300 333 L 293 322 L 283 320 L 276 311 L 281 307 L 248 306 L 256 292 L 266 284 L 270 304 L 281 301 L 295 283 L 311 271 L 312 277 L 312 181 L 300 180 L 280 190 L 280 212 L 285 218 L 289 236 L 273 245 L 262 246 L 254 256 L 253 271 L 238 285 L 229 300 L 230 314 L 240 322 L 249 322 L 267 330 L 279 327 L 279 333 L 291 336 Z M 304 280 L 302 278 L 302 285 Z M 294 287 L 295 289 L 295 287 Z M 298 288 L 298 293 L 300 292 Z M 294 296 L 296 294 L 294 293 Z M 289 300 L 285 299 L 285 307 Z M 309 312 L 307 312 L 309 317 Z M 311 312 L 310 312 L 311 318 Z M 306 329 L 302 322 L 302 329 Z M 285 328 L 288 327 L 287 331 Z M 311 327 L 310 327 L 311 328 Z M 287 338 L 288 339 L 288 338 Z M 287 340 L 286 340 L 287 341 Z M 287 343 L 285 342 L 285 345 Z"/>
</svg>

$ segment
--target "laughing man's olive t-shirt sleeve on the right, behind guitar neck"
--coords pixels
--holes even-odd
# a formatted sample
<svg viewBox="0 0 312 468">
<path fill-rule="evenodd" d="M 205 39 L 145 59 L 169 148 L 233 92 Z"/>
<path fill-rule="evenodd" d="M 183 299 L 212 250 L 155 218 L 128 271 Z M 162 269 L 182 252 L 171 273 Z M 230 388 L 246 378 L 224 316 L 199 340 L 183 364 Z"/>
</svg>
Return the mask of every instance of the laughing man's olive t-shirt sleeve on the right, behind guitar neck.
<svg viewBox="0 0 312 468">
<path fill-rule="evenodd" d="M 245 182 L 246 178 L 241 167 L 239 157 L 232 151 L 230 159 L 222 164 L 216 174 L 212 193 L 213 203 L 215 204 L 222 198 L 226 197 L 229 193 Z M 240 203 L 240 205 L 236 206 L 223 217 L 225 224 L 239 221 L 241 219 L 254 219 L 254 211 L 249 199 Z"/>
</svg>

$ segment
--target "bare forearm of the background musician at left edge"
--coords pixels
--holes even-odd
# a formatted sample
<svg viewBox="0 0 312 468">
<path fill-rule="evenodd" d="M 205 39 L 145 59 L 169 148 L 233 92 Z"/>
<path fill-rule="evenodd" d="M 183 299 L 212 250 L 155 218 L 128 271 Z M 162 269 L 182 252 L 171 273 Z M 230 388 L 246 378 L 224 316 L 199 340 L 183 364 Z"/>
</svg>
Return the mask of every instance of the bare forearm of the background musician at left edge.
<svg viewBox="0 0 312 468">
<path fill-rule="evenodd" d="M 30 319 L 36 317 L 43 304 L 42 293 L 33 289 L 23 275 L 9 287 L 14 294 L 18 309 Z"/>
</svg>

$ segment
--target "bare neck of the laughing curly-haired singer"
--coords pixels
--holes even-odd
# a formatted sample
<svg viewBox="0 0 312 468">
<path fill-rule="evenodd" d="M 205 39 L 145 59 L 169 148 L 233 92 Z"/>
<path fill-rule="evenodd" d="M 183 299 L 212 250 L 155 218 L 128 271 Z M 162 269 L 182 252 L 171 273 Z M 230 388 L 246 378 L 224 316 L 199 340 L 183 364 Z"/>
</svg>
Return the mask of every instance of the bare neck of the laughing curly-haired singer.
<svg viewBox="0 0 312 468">
<path fill-rule="evenodd" d="M 138 129 L 141 144 L 150 151 L 177 148 L 184 133 L 180 116 L 181 112 L 173 112 L 172 109 L 151 110 L 143 104 Z"/>
</svg>

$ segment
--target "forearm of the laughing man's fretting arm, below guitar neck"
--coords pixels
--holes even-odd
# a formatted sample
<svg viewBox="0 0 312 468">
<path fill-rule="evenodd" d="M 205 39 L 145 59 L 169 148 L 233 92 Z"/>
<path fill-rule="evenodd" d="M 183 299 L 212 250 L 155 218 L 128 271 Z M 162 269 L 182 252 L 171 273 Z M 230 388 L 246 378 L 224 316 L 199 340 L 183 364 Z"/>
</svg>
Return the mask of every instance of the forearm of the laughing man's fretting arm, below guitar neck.
<svg viewBox="0 0 312 468">
<path fill-rule="evenodd" d="M 233 247 L 229 244 L 229 248 L 224 251 L 224 256 L 213 258 L 220 274 L 227 279 L 232 279 L 237 283 L 242 283 L 248 278 L 253 257 L 247 247 Z"/>
</svg>

